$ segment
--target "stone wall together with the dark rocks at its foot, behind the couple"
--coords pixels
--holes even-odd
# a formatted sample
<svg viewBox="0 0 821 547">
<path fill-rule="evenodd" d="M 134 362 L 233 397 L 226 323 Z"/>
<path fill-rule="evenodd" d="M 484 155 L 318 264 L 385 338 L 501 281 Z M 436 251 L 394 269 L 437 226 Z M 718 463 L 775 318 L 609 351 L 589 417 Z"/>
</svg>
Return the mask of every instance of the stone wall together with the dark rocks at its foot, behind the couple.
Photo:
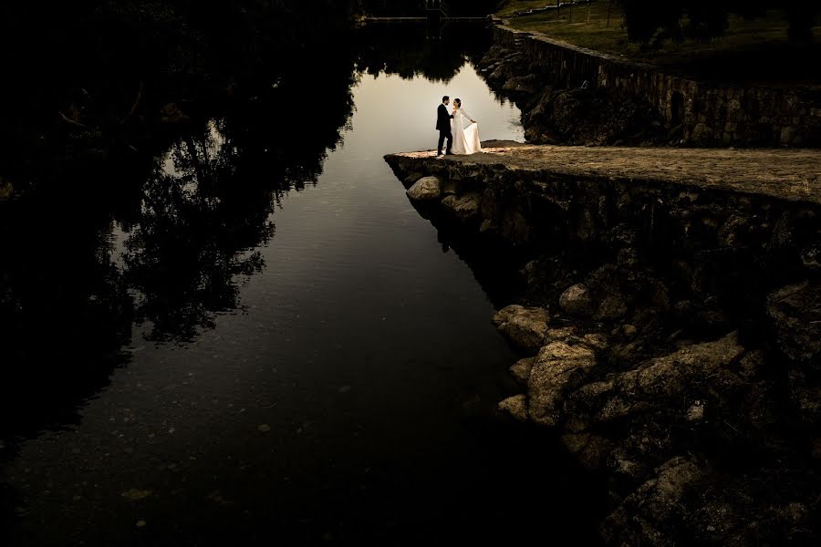
<svg viewBox="0 0 821 547">
<path fill-rule="evenodd" d="M 496 15 L 491 21 L 494 47 L 480 69 L 494 88 L 517 100 L 528 140 L 536 144 L 628 140 L 639 145 L 821 147 L 819 89 L 740 88 L 681 77 L 540 32 L 517 30 Z M 589 131 L 592 135 L 567 135 L 573 131 L 562 118 L 573 119 L 564 114 L 574 105 L 566 104 L 567 98 L 556 99 L 568 90 L 585 91 L 570 103 L 581 100 L 586 109 L 598 109 L 598 117 L 588 123 L 615 123 L 618 128 L 606 128 L 602 135 L 595 129 Z M 596 93 L 612 104 L 598 104 Z M 625 112 L 625 102 L 635 105 L 635 111 Z M 558 127 L 553 127 L 554 118 Z M 630 140 L 630 134 L 641 130 L 640 122 L 656 130 Z"/>
</svg>

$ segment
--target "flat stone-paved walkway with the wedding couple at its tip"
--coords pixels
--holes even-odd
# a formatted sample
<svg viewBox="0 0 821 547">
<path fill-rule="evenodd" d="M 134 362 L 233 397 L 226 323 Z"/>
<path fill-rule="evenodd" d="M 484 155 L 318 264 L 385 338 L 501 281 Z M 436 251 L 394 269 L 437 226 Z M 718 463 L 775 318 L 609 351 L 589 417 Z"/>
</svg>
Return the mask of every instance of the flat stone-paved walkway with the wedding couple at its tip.
<svg viewBox="0 0 821 547">
<path fill-rule="evenodd" d="M 699 189 L 821 203 L 821 150 L 565 147 L 488 141 L 486 153 L 436 159 L 434 151 L 396 154 L 431 161 L 499 165 L 510 170 L 670 181 Z"/>
</svg>

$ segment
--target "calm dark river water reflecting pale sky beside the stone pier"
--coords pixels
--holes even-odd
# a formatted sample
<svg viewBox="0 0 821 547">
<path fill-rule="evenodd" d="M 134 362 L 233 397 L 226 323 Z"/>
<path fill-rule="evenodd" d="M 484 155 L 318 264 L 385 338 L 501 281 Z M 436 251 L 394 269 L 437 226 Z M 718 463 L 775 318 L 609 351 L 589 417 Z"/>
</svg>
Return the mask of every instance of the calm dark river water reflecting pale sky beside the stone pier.
<svg viewBox="0 0 821 547">
<path fill-rule="evenodd" d="M 17 213 L 54 246 L 19 260 L 61 269 L 82 310 L 37 321 L 93 328 L 42 342 L 65 358 L 42 374 L 65 384 L 5 418 L 7 544 L 594 541 L 601 492 L 496 414 L 516 356 L 494 304 L 382 159 L 435 146 L 445 93 L 483 139 L 524 139 L 519 111 L 466 60 L 449 79 L 357 74 L 338 144 L 286 191 L 203 191 L 244 184 L 213 119 L 157 158 L 136 213 L 103 215 L 85 258 Z"/>
</svg>

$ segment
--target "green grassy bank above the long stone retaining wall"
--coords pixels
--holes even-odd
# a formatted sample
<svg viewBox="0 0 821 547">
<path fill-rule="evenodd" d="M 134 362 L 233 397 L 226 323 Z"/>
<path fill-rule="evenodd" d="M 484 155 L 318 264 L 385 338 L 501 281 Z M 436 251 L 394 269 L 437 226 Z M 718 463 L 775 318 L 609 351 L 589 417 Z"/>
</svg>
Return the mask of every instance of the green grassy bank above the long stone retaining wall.
<svg viewBox="0 0 821 547">
<path fill-rule="evenodd" d="M 773 10 L 752 20 L 730 16 L 724 36 L 710 41 L 665 42 L 659 48 L 631 43 L 621 7 L 608 0 L 551 9 L 534 15 L 514 12 L 554 5 L 551 0 L 508 0 L 496 15 L 519 30 L 537 31 L 577 46 L 634 58 L 684 76 L 721 79 L 742 85 L 821 87 L 821 25 L 814 43 L 798 46 L 787 39 L 787 22 Z"/>
</svg>

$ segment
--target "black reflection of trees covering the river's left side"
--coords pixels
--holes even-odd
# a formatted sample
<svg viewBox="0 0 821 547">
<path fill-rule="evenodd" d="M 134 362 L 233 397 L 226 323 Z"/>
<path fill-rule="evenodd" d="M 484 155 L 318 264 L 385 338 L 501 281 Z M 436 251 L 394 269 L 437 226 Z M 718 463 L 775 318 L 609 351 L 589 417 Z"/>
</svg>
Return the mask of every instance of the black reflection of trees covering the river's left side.
<svg viewBox="0 0 821 547">
<path fill-rule="evenodd" d="M 192 104 L 191 122 L 141 172 L 97 173 L 104 182 L 93 196 L 87 173 L 75 173 L 56 183 L 67 189 L 59 199 L 6 203 L 0 439 L 76 421 L 78 403 L 129 362 L 134 322 L 152 341 L 185 343 L 241 309 L 243 279 L 265 267 L 257 249 L 274 236 L 275 208 L 286 192 L 316 184 L 358 78 L 448 80 L 489 45 L 475 26 L 448 27 L 442 41 L 425 33 L 375 25 L 347 46 L 317 44 L 307 58 L 321 66 L 291 59 L 238 81 L 229 99 Z M 42 253 L 55 227 L 59 243 Z"/>
</svg>

